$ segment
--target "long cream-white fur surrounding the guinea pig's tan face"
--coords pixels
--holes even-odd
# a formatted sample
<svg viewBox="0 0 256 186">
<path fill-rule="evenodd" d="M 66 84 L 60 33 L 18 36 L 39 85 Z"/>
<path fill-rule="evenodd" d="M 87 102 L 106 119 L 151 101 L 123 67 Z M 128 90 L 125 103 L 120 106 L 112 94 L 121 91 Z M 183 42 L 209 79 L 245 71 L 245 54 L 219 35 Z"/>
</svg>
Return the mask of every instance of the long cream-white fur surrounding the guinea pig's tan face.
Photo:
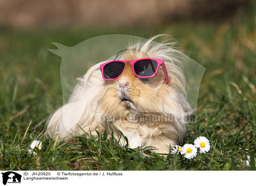
<svg viewBox="0 0 256 186">
<path fill-rule="evenodd" d="M 167 42 L 155 42 L 154 40 L 159 37 L 166 37 Z M 181 70 L 182 65 L 177 58 L 177 55 L 184 55 L 179 50 L 171 47 L 173 43 L 169 43 L 168 41 L 168 35 L 157 35 L 146 42 L 138 41 L 137 44 L 130 44 L 127 49 L 137 49 L 137 53 L 135 54 L 137 58 L 143 58 L 146 54 L 149 58 L 158 58 L 165 62 L 169 78 L 172 79 L 171 81 L 174 81 L 175 84 L 170 85 L 174 91 L 169 91 L 169 101 L 163 103 L 162 111 L 165 114 L 183 117 L 192 112 L 190 105 L 186 102 L 186 80 Z M 121 52 L 119 55 L 113 56 L 106 61 L 113 59 L 125 60 L 125 55 L 127 55 L 127 53 Z M 97 110 L 101 110 L 97 108 L 99 107 L 98 101 L 104 96 L 106 91 L 104 87 L 105 81 L 99 70 L 99 65 L 104 62 L 105 61 L 94 65 L 82 78 L 77 79 L 78 84 L 74 88 L 68 103 L 49 116 L 47 121 L 47 134 L 51 137 L 59 135 L 60 138 L 68 137 L 67 139 L 70 139 L 71 136 L 82 134 L 82 128 L 84 131 L 88 133 L 91 132 L 97 137 L 95 130 L 103 132 L 105 128 L 107 128 L 111 131 L 115 130 L 113 128 L 113 125 L 115 125 L 116 128 L 128 137 L 131 147 L 143 145 L 143 143 L 148 140 L 149 145 L 156 145 L 157 148 L 160 149 L 158 152 L 168 153 L 166 146 L 168 146 L 168 144 L 174 146 L 177 143 L 177 137 L 172 136 L 177 135 L 182 138 L 186 131 L 186 125 L 178 120 L 175 121 L 174 125 L 161 124 L 161 126 L 166 125 L 166 131 L 172 133 L 172 135 L 170 135 L 171 139 L 154 138 L 154 136 L 166 131 L 159 131 L 155 127 L 150 128 L 148 127 L 149 125 L 139 125 L 136 122 L 126 121 L 126 123 L 122 125 L 115 121 L 112 121 L 113 125 L 109 122 L 106 122 L 105 125 L 97 122 L 95 114 L 97 114 Z M 131 128 L 131 130 L 129 128 Z M 167 144 L 165 144 L 164 147 L 162 145 L 162 143 L 165 143 L 163 140 L 165 140 Z"/>
</svg>

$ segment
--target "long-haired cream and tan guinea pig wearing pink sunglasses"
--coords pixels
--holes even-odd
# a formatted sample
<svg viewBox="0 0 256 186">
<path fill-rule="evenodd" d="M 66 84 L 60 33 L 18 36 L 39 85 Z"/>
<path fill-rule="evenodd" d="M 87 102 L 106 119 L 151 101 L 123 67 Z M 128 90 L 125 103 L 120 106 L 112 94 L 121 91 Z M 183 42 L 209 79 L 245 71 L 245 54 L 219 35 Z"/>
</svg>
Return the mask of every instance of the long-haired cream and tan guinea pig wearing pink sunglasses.
<svg viewBox="0 0 256 186">
<path fill-rule="evenodd" d="M 97 138 L 96 130 L 107 130 L 119 139 L 121 132 L 131 148 L 150 146 L 157 153 L 182 143 L 183 118 L 192 109 L 175 58 L 181 52 L 155 42 L 157 37 L 129 45 L 78 78 L 68 103 L 49 117 L 47 134 L 68 140 L 84 131 Z M 120 143 L 126 144 L 124 137 Z"/>
</svg>

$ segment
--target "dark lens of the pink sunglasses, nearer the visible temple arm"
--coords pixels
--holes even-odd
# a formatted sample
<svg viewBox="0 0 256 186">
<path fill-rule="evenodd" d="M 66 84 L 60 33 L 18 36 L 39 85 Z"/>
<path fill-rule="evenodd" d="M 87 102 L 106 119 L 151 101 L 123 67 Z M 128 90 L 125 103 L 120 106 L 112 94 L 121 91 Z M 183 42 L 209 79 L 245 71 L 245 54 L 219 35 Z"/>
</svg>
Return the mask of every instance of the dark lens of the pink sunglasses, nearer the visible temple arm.
<svg viewBox="0 0 256 186">
<path fill-rule="evenodd" d="M 134 71 L 138 76 L 152 76 L 157 70 L 157 61 L 145 59 L 134 64 Z"/>
</svg>

